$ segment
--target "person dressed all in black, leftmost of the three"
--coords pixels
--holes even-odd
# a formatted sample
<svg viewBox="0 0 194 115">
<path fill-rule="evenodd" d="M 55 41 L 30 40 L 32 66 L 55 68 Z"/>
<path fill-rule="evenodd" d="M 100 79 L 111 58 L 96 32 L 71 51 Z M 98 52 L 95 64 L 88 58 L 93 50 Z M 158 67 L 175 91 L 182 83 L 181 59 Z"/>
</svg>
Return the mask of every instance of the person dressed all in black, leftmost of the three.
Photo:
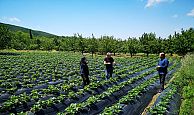
<svg viewBox="0 0 194 115">
<path fill-rule="evenodd" d="M 80 73 L 83 79 L 84 86 L 88 85 L 90 83 L 90 80 L 88 77 L 89 69 L 88 69 L 88 65 L 85 57 L 81 58 L 81 61 L 80 61 Z"/>
</svg>

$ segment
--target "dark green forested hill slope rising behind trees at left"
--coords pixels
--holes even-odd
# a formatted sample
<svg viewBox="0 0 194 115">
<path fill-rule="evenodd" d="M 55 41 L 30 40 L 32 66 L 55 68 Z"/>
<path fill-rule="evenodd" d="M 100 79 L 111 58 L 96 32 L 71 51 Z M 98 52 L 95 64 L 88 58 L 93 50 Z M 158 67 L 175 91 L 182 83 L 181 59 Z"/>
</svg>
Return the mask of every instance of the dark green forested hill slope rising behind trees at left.
<svg viewBox="0 0 194 115">
<path fill-rule="evenodd" d="M 4 25 L 6 26 L 10 31 L 16 32 L 16 31 L 22 31 L 24 33 L 29 33 L 30 29 L 29 28 L 24 28 L 20 26 L 15 26 L 11 24 L 5 24 L 0 22 L 0 26 Z M 42 32 L 42 31 L 37 31 L 37 30 L 31 30 L 33 36 L 44 36 L 44 37 L 55 37 L 56 35 Z"/>
</svg>

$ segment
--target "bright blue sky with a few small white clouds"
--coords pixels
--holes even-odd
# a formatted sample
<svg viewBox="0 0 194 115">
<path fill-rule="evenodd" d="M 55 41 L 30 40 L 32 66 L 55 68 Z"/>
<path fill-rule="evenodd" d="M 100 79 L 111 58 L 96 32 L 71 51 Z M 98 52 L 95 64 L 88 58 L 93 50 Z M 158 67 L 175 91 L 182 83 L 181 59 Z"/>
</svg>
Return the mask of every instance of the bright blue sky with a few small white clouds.
<svg viewBox="0 0 194 115">
<path fill-rule="evenodd" d="M 0 22 L 63 36 L 165 38 L 194 27 L 194 0 L 0 0 Z"/>
</svg>

